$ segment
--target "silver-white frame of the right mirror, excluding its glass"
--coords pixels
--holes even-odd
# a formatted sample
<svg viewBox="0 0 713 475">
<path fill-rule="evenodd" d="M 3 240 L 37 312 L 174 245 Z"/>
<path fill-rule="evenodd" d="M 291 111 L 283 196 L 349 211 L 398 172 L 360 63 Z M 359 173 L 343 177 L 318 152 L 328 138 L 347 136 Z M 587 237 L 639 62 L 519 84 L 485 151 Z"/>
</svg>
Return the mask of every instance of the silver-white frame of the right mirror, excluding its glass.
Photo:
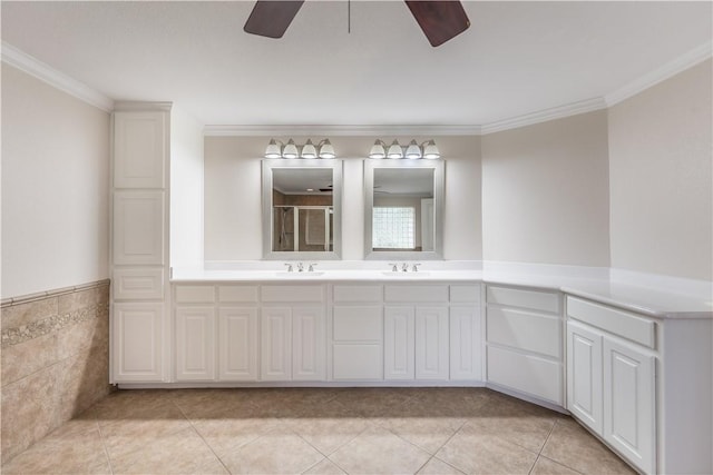
<svg viewBox="0 0 713 475">
<path fill-rule="evenodd" d="M 374 170 L 379 168 L 430 168 L 433 170 L 433 250 L 373 250 Z M 364 160 L 364 259 L 438 260 L 443 258 L 445 161 L 409 159 Z"/>
</svg>

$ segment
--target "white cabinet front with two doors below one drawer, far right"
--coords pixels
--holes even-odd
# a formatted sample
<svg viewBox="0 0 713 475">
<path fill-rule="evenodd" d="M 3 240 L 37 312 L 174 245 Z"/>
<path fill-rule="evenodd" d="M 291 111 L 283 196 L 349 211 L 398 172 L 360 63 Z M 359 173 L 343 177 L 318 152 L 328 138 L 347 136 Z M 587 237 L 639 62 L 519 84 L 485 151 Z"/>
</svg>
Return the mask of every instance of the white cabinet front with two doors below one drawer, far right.
<svg viewBox="0 0 713 475">
<path fill-rule="evenodd" d="M 657 324 L 576 297 L 567 297 L 567 408 L 655 473 Z"/>
</svg>

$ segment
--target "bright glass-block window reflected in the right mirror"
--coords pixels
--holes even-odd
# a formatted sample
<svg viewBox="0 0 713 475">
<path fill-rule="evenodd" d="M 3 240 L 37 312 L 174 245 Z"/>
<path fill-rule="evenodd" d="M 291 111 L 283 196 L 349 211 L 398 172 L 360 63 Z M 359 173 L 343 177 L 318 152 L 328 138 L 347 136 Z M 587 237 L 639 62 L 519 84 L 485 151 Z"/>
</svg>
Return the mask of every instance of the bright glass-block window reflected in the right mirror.
<svg viewBox="0 0 713 475">
<path fill-rule="evenodd" d="M 403 206 L 373 208 L 373 247 L 416 248 L 416 209 Z"/>
</svg>

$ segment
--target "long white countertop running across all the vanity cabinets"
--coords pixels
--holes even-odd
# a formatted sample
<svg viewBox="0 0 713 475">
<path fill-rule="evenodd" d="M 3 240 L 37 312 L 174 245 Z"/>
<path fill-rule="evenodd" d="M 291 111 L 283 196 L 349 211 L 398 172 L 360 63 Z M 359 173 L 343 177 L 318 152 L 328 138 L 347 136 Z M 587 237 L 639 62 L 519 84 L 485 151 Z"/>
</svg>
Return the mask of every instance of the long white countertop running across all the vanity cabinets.
<svg viewBox="0 0 713 475">
<path fill-rule="evenodd" d="M 173 269 L 180 283 L 461 283 L 560 290 L 656 318 L 713 318 L 713 284 L 609 268 L 481 261 L 427 261 L 417 273 L 387 263 L 321 261 L 314 273 L 286 273 L 282 263 L 212 263 Z"/>
</svg>

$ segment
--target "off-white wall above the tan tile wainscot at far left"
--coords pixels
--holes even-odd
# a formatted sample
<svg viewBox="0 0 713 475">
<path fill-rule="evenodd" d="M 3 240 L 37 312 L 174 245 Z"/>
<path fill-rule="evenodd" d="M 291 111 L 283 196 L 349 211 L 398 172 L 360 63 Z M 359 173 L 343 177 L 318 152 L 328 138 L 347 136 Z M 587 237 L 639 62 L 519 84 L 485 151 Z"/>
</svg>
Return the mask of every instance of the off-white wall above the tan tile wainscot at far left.
<svg viewBox="0 0 713 475">
<path fill-rule="evenodd" d="M 2 65 L 2 298 L 108 277 L 109 113 Z"/>
</svg>

